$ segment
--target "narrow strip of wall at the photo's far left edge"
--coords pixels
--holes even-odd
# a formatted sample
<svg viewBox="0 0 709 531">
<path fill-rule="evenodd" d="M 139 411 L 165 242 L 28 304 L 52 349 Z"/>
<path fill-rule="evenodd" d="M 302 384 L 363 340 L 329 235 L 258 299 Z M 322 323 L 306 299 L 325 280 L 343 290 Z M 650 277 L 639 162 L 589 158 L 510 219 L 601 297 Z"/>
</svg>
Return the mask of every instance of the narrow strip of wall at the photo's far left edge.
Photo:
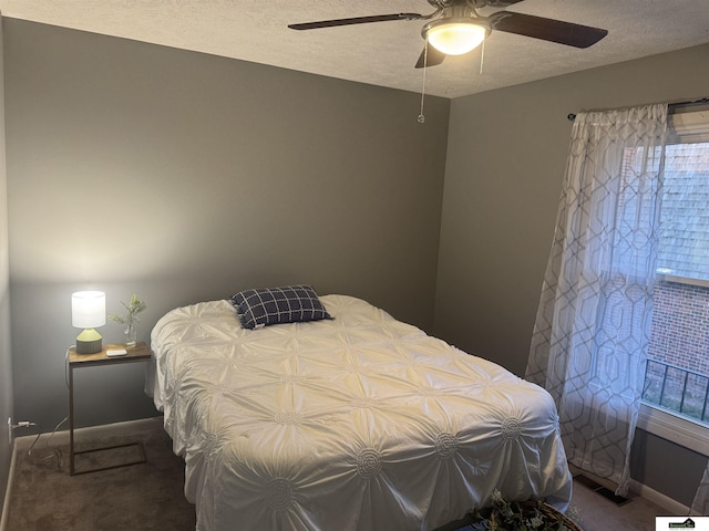
<svg viewBox="0 0 709 531">
<path fill-rule="evenodd" d="M 1 19 L 1 15 L 0 15 Z M 4 83 L 0 25 L 0 507 L 10 469 L 7 419 L 12 415 L 12 357 L 10 355 L 10 270 L 8 261 L 8 192 L 4 164 Z"/>
</svg>

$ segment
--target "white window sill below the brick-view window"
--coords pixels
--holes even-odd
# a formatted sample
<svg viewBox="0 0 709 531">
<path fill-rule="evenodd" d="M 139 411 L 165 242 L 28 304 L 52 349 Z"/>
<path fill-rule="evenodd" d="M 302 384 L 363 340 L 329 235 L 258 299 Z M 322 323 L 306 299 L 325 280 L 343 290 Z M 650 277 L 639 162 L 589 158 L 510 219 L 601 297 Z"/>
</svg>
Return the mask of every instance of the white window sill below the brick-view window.
<svg viewBox="0 0 709 531">
<path fill-rule="evenodd" d="M 638 415 L 638 428 L 703 456 L 707 455 L 709 427 L 701 424 L 692 423 L 662 409 L 643 404 Z"/>
</svg>

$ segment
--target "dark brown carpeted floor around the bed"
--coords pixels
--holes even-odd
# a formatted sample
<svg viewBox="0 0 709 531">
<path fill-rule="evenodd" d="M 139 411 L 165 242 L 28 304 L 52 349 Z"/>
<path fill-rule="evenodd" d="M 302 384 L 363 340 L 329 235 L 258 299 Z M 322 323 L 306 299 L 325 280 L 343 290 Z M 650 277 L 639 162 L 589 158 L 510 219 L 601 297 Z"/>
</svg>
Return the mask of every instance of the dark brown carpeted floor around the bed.
<svg viewBox="0 0 709 531">
<path fill-rule="evenodd" d="M 47 447 L 43 441 L 47 436 L 42 436 L 31 455 L 18 448 L 6 503 L 8 514 L 3 516 L 6 531 L 194 530 L 194 506 L 183 494 L 184 464 L 172 452 L 162 419 L 114 426 L 113 434 L 111 430 L 88 434 L 90 446 L 116 444 L 114 433 L 119 430 L 122 440 L 142 441 L 145 464 L 70 476 L 69 446 L 61 437 Z M 81 438 L 78 440 L 76 449 L 86 447 Z M 136 457 L 134 451 L 135 447 L 129 447 L 110 454 L 113 458 L 132 460 Z M 78 456 L 76 470 L 95 466 L 106 458 L 102 454 Z M 584 531 L 647 531 L 655 529 L 656 516 L 667 514 L 639 498 L 618 507 L 578 482 L 574 485 L 572 508 L 580 517 Z"/>
</svg>

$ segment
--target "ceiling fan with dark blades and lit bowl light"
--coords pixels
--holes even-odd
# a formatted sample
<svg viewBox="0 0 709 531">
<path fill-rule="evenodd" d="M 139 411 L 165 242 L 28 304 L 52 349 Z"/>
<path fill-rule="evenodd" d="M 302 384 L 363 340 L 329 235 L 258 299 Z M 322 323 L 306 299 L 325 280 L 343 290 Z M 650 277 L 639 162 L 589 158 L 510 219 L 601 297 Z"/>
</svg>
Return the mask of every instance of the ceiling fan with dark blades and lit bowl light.
<svg viewBox="0 0 709 531">
<path fill-rule="evenodd" d="M 415 67 L 435 66 L 446 55 L 461 55 L 475 49 L 494 31 L 532 37 L 575 48 L 588 48 L 608 34 L 608 30 L 545 19 L 532 14 L 497 11 L 489 17 L 477 13 L 485 7 L 506 8 L 523 0 L 427 0 L 434 9 L 431 14 L 392 13 L 350 19 L 321 20 L 288 24 L 292 30 L 315 30 L 338 25 L 368 24 L 393 20 L 430 20 L 421 35 L 427 42 Z M 429 46 L 428 44 L 431 44 Z"/>
</svg>

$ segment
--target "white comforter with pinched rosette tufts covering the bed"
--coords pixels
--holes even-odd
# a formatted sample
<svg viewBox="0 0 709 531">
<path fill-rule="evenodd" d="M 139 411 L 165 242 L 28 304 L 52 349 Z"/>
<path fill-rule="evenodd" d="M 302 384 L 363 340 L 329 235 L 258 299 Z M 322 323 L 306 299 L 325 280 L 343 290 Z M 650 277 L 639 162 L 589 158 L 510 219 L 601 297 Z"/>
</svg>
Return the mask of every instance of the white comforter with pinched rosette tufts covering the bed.
<svg viewBox="0 0 709 531">
<path fill-rule="evenodd" d="M 321 301 L 333 320 L 248 331 L 214 301 L 153 330 L 197 530 L 430 530 L 493 489 L 566 508 L 545 391 L 364 301 Z"/>
</svg>

